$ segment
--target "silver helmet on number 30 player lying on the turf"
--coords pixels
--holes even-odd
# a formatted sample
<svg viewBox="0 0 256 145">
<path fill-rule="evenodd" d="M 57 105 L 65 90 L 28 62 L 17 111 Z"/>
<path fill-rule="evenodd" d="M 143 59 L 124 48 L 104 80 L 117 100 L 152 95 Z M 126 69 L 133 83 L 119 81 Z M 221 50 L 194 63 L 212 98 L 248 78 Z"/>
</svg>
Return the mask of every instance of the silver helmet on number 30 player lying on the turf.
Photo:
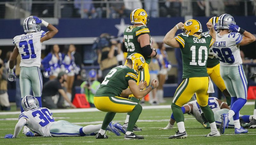
<svg viewBox="0 0 256 145">
<path fill-rule="evenodd" d="M 21 106 L 25 111 L 33 108 L 39 108 L 39 102 L 36 97 L 32 95 L 27 95 L 21 100 Z"/>
</svg>

